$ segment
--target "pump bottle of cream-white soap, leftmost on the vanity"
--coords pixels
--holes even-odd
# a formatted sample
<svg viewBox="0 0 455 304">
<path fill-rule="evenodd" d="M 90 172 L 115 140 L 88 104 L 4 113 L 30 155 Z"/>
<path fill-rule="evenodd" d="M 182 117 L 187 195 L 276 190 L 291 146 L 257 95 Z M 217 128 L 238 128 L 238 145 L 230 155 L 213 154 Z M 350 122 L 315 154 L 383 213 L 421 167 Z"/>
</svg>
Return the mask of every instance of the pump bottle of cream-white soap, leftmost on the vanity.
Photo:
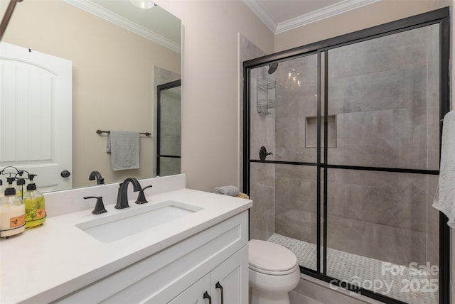
<svg viewBox="0 0 455 304">
<path fill-rule="evenodd" d="M 0 198 L 0 237 L 8 238 L 26 229 L 26 207 L 13 188 L 15 178 L 10 176 L 6 180 L 8 188 L 5 189 L 4 197 Z"/>
</svg>

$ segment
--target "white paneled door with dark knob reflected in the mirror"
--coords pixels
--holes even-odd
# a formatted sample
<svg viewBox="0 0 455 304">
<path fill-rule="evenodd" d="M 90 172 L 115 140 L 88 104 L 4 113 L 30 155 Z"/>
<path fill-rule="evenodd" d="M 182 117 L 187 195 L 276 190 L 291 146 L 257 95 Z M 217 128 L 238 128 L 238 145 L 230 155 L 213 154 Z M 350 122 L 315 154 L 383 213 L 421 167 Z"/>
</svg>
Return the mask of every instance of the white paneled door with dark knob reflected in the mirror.
<svg viewBox="0 0 455 304">
<path fill-rule="evenodd" d="M 38 175 L 44 192 L 71 188 L 73 63 L 2 42 L 0 64 L 0 169 Z"/>
</svg>

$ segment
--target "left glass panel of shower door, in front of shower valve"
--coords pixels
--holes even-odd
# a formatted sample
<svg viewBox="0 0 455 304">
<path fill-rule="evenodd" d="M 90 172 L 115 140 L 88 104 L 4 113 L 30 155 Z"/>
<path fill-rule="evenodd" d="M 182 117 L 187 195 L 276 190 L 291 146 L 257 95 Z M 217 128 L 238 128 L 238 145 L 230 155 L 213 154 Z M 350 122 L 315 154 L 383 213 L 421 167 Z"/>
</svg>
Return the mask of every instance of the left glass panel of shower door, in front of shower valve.
<svg viewBox="0 0 455 304">
<path fill-rule="evenodd" d="M 250 197 L 255 201 L 250 237 L 286 246 L 299 265 L 314 271 L 319 251 L 317 66 L 314 53 L 250 72 Z M 272 154 L 262 159 L 262 147 Z"/>
</svg>

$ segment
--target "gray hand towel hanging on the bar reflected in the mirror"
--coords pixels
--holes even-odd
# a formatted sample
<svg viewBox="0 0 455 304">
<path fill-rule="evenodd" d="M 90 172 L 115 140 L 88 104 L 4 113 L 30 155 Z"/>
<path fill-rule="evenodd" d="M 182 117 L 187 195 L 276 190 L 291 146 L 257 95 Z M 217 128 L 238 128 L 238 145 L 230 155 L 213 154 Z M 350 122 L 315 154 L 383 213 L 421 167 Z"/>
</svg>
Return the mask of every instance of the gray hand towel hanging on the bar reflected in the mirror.
<svg viewBox="0 0 455 304">
<path fill-rule="evenodd" d="M 106 150 L 111 153 L 112 170 L 139 168 L 139 132 L 110 131 Z"/>
</svg>

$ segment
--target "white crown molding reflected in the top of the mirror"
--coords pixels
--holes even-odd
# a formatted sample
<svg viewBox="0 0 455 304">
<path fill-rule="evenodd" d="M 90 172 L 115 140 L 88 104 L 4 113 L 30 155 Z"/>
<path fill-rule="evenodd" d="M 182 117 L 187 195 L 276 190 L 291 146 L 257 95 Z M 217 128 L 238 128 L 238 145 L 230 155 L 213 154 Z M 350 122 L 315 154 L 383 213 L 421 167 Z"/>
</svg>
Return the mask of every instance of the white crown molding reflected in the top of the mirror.
<svg viewBox="0 0 455 304">
<path fill-rule="evenodd" d="M 181 45 L 175 43 L 164 36 L 161 36 L 153 31 L 150 31 L 143 26 L 139 26 L 137 23 L 130 21 L 127 18 L 117 15 L 117 13 L 112 13 L 107 9 L 98 6 L 97 4 L 88 1 L 88 0 L 63 0 L 68 4 L 76 6 L 79 9 L 83 9 L 89 13 L 92 13 L 95 16 L 98 16 L 106 21 L 112 22 L 117 26 L 120 26 L 128 31 L 137 33 L 137 35 L 142 36 L 146 39 L 152 40 L 160 45 L 163 45 L 166 48 L 169 48 L 175 52 L 181 53 Z"/>
</svg>

